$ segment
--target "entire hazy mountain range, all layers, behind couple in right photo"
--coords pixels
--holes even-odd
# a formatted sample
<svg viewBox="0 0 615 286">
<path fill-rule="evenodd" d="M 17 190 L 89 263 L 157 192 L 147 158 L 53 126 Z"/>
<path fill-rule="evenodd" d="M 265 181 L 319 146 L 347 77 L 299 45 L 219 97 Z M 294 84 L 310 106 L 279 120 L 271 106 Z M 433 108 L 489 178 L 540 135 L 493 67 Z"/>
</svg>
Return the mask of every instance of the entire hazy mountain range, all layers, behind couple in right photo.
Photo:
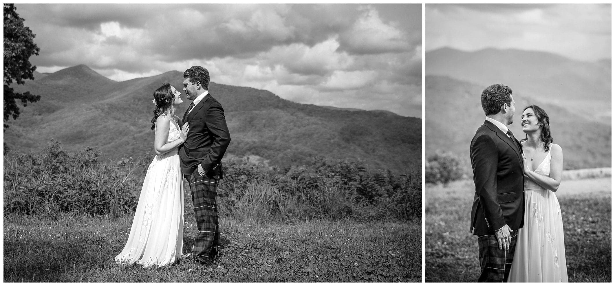
<svg viewBox="0 0 615 286">
<path fill-rule="evenodd" d="M 442 48 L 426 53 L 425 82 L 427 157 L 450 151 L 471 172 L 470 140 L 485 120 L 480 93 L 498 83 L 511 87 L 517 103 L 509 125 L 515 137 L 525 138 L 520 114 L 535 104 L 549 114 L 554 143 L 564 151 L 564 169 L 611 166 L 610 60 L 590 63 L 546 52 Z"/>
</svg>

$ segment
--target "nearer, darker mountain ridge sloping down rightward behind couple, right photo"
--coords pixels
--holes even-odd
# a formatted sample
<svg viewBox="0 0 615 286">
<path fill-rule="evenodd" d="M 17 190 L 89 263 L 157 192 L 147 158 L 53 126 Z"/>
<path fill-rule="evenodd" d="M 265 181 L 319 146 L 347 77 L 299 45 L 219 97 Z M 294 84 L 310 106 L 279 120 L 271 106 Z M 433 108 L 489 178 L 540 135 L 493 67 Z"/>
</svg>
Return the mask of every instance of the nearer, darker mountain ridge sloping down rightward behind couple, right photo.
<svg viewBox="0 0 615 286">
<path fill-rule="evenodd" d="M 425 82 L 426 156 L 437 151 L 456 154 L 471 175 L 470 141 L 485 121 L 480 105 L 480 93 L 485 87 L 445 76 L 426 76 Z M 517 139 L 525 138 L 520 124 L 523 108 L 536 104 L 549 114 L 554 143 L 563 149 L 565 170 L 611 166 L 610 122 L 592 122 L 539 97 L 514 98 L 517 111 L 508 127 Z"/>
</svg>

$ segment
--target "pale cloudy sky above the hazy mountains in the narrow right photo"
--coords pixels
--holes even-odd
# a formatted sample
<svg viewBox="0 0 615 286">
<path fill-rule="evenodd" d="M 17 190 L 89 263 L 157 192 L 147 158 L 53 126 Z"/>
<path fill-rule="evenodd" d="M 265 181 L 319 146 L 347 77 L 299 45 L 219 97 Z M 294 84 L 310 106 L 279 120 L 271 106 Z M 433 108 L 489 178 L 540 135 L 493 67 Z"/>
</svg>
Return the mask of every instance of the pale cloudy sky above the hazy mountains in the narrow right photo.
<svg viewBox="0 0 615 286">
<path fill-rule="evenodd" d="M 611 58 L 610 4 L 426 4 L 425 50 L 541 50 Z"/>
</svg>

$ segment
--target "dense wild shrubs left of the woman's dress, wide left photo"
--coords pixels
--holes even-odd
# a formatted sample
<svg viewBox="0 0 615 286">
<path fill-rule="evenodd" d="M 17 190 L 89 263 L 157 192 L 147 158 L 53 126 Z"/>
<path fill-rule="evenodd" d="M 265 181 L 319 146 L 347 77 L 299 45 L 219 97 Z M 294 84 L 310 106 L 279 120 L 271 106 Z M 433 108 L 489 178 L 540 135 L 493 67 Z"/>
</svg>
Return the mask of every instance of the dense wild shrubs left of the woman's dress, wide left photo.
<svg viewBox="0 0 615 286">
<path fill-rule="evenodd" d="M 58 141 L 40 154 L 4 158 L 4 211 L 26 214 L 132 212 L 142 181 L 132 173 L 139 162 L 101 162 L 98 149 L 68 154 Z"/>
</svg>

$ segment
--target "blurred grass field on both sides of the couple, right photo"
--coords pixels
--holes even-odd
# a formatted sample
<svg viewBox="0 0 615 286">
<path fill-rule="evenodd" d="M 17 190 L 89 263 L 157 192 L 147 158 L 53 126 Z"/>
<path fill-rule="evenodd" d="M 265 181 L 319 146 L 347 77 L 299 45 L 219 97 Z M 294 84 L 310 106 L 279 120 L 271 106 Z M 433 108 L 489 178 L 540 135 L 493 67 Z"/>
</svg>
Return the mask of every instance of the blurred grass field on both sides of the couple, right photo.
<svg viewBox="0 0 615 286">
<path fill-rule="evenodd" d="M 556 193 L 564 223 L 569 282 L 611 282 L 610 180 L 563 181 L 562 192 Z M 426 186 L 426 282 L 478 279 L 478 242 L 469 232 L 473 198 L 472 180 Z"/>
</svg>

